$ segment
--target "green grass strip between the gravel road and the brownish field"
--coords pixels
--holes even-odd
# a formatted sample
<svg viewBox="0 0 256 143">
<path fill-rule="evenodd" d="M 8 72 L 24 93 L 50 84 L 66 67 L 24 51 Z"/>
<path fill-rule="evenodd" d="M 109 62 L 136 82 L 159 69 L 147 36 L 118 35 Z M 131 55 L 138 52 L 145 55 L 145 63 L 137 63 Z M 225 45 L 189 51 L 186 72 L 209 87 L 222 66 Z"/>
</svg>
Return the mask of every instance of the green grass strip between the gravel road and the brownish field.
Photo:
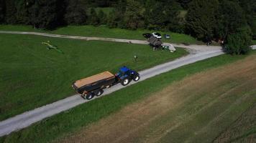
<svg viewBox="0 0 256 143">
<path fill-rule="evenodd" d="M 253 52 L 252 54 L 256 53 Z M 244 59 L 244 57 L 246 56 L 221 55 L 180 67 L 100 99 L 81 104 L 67 112 L 44 119 L 31 127 L 9 134 L 9 136 L 1 137 L 0 142 L 35 142 L 35 139 L 37 139 L 37 142 L 52 142 L 54 140 L 58 142 L 59 139 L 68 137 L 70 134 L 76 134 L 93 122 L 108 117 L 131 103 L 140 102 L 145 97 L 152 96 L 155 92 L 159 92 L 173 82 L 196 74 L 199 71 L 206 71 L 207 69 L 233 63 L 239 59 Z M 187 109 L 188 107 L 184 108 Z M 186 109 L 183 111 L 186 112 Z M 188 113 L 189 111 L 191 110 L 188 110 Z"/>
</svg>

